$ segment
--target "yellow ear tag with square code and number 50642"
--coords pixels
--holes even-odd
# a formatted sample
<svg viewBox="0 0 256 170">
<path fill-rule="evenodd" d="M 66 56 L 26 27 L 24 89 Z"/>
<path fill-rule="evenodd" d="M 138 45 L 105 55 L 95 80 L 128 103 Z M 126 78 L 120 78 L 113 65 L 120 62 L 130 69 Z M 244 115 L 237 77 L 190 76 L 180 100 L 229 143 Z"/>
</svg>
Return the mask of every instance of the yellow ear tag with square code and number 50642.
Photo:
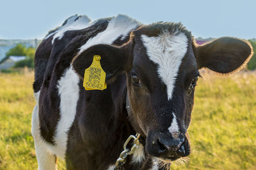
<svg viewBox="0 0 256 170">
<path fill-rule="evenodd" d="M 85 90 L 104 90 L 107 89 L 106 73 L 100 66 L 99 55 L 93 56 L 93 61 L 90 67 L 84 71 L 84 83 Z"/>
</svg>

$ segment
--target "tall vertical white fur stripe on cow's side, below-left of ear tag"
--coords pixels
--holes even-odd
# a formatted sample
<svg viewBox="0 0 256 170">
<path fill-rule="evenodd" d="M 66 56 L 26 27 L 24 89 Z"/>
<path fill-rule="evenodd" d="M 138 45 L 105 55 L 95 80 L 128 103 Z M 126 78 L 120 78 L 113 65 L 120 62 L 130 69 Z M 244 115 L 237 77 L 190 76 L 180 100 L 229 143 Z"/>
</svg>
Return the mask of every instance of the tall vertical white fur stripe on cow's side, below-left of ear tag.
<svg viewBox="0 0 256 170">
<path fill-rule="evenodd" d="M 47 148 L 54 155 L 65 158 L 67 150 L 68 130 L 70 129 L 75 115 L 76 106 L 79 99 L 79 77 L 73 71 L 72 66 L 68 67 L 63 76 L 58 81 L 58 94 L 60 96 L 60 120 L 54 135 L 56 145 L 47 143 Z"/>
</svg>

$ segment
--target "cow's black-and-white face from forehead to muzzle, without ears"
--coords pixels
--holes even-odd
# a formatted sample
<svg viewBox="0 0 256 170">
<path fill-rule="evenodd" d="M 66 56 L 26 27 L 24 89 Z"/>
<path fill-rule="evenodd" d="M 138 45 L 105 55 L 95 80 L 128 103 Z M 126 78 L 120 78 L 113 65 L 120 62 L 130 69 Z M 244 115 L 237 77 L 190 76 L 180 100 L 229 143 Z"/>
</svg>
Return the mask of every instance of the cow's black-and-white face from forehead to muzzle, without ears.
<svg viewBox="0 0 256 170">
<path fill-rule="evenodd" d="M 131 122 L 147 136 L 150 155 L 162 160 L 185 157 L 199 76 L 191 36 L 174 28 L 154 34 L 141 28 L 133 34 L 132 69 L 127 72 Z"/>
</svg>

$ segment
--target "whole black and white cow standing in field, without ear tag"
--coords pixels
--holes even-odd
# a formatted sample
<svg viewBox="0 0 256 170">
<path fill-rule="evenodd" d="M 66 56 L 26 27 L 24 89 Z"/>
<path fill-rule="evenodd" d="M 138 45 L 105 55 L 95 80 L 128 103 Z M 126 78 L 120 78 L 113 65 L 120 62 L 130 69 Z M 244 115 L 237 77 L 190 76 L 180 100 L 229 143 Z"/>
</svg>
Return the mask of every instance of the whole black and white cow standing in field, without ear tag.
<svg viewBox="0 0 256 170">
<path fill-rule="evenodd" d="M 101 57 L 105 90 L 83 87 L 93 55 Z M 160 169 L 161 161 L 188 156 L 198 69 L 230 73 L 251 56 L 250 43 L 236 38 L 198 46 L 182 24 L 142 25 L 125 15 L 94 22 L 68 18 L 35 54 L 38 169 L 55 169 L 56 157 L 66 160 L 67 169 L 113 169 L 136 132 L 140 146 L 125 169 Z"/>
</svg>

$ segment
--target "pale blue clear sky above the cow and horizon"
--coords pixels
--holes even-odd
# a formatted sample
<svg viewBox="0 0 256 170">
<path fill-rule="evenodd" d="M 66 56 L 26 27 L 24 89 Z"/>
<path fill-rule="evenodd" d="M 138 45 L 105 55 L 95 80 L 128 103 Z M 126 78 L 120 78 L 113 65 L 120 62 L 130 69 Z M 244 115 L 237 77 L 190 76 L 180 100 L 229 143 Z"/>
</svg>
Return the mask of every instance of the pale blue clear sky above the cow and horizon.
<svg viewBox="0 0 256 170">
<path fill-rule="evenodd" d="M 195 37 L 256 38 L 255 0 L 0 0 L 0 39 L 42 39 L 72 15 L 119 13 L 143 24 L 181 22 Z"/>
</svg>

